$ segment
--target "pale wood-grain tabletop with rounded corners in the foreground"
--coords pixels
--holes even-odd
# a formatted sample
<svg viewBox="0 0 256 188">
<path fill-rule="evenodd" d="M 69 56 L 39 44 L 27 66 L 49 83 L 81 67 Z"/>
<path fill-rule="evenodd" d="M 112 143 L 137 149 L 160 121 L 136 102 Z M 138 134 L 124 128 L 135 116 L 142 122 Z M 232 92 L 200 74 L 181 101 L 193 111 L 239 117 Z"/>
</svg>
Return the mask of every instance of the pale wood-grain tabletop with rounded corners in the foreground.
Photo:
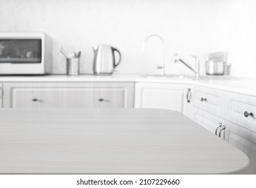
<svg viewBox="0 0 256 188">
<path fill-rule="evenodd" d="M 1 109 L 1 174 L 230 174 L 247 156 L 164 109 Z"/>
</svg>

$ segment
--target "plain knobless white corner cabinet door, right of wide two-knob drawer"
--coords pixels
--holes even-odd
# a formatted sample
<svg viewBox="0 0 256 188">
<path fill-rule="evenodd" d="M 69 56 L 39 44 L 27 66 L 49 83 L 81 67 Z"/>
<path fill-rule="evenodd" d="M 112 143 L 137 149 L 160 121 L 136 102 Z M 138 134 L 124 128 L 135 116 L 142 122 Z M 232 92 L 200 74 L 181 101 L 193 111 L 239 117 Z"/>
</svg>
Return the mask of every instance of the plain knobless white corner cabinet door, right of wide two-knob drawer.
<svg viewBox="0 0 256 188">
<path fill-rule="evenodd" d="M 187 85 L 165 83 L 136 83 L 136 108 L 157 108 L 183 111 Z"/>
</svg>

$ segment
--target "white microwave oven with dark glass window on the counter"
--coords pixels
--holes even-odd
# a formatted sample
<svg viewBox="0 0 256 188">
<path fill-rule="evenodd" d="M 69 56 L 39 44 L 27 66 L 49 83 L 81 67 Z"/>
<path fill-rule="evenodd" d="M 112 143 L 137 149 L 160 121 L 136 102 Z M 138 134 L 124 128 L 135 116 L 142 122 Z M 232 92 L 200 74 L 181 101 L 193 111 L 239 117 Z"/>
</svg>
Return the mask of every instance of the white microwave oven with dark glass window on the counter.
<svg viewBox="0 0 256 188">
<path fill-rule="evenodd" d="M 0 33 L 0 75 L 45 75 L 51 56 L 43 32 Z"/>
</svg>

